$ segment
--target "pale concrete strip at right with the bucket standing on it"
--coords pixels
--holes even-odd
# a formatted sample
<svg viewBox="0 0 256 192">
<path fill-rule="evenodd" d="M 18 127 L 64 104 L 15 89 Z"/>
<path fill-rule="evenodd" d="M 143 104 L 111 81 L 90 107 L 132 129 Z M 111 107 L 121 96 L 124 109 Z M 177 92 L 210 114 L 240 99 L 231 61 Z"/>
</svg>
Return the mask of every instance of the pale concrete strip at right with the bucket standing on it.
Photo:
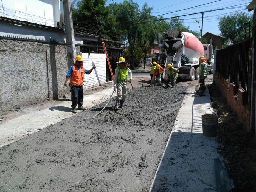
<svg viewBox="0 0 256 192">
<path fill-rule="evenodd" d="M 191 92 L 191 86 L 188 90 Z M 226 161 L 217 152 L 218 138 L 202 135 L 201 115 L 213 112 L 209 92 L 201 97 L 187 93 L 185 97 L 151 191 L 216 191 L 214 159 L 219 158 L 225 168 Z M 224 175 L 229 191 L 232 180 Z"/>
</svg>

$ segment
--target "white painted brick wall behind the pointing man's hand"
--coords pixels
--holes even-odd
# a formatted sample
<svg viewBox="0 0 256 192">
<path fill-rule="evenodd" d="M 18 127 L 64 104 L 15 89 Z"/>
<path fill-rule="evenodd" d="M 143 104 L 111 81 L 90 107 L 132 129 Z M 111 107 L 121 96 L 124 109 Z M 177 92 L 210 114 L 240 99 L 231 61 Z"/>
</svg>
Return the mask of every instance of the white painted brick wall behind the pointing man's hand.
<svg viewBox="0 0 256 192">
<path fill-rule="evenodd" d="M 83 67 L 90 70 L 93 65 L 97 66 L 91 74 L 85 74 L 85 89 L 106 83 L 106 55 L 97 53 L 82 53 Z"/>
</svg>

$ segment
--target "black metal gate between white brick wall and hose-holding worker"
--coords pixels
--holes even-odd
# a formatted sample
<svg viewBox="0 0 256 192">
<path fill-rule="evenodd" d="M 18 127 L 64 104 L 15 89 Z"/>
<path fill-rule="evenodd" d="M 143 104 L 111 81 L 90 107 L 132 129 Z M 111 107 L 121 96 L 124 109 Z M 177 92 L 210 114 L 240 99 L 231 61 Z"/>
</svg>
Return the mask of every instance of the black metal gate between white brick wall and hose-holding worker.
<svg viewBox="0 0 256 192">
<path fill-rule="evenodd" d="M 124 49 L 120 49 L 120 48 L 106 48 L 107 52 L 108 52 L 108 58 L 109 58 L 109 62 L 112 68 L 112 72 L 113 74 L 115 73 L 115 69 L 117 67 L 117 63 L 120 57 L 124 56 Z M 105 53 L 104 50 L 100 50 L 99 53 Z M 108 66 L 108 61 L 106 60 L 106 82 L 112 81 L 112 77 L 111 77 L 111 73 L 110 73 L 110 69 Z"/>
</svg>

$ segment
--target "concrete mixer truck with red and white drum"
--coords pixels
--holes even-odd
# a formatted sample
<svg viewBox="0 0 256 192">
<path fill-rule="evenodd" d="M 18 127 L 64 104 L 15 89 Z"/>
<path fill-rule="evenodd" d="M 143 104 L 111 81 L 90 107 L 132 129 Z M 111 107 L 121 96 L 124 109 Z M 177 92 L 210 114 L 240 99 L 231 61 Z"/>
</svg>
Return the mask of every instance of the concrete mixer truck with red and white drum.
<svg viewBox="0 0 256 192">
<path fill-rule="evenodd" d="M 179 30 L 158 34 L 158 63 L 164 67 L 163 78 L 167 80 L 167 65 L 170 63 L 179 70 L 178 77 L 193 81 L 199 78 L 199 57 L 204 55 L 208 62 L 208 70 L 213 70 L 213 48 L 210 44 L 202 44 L 192 33 Z"/>
</svg>

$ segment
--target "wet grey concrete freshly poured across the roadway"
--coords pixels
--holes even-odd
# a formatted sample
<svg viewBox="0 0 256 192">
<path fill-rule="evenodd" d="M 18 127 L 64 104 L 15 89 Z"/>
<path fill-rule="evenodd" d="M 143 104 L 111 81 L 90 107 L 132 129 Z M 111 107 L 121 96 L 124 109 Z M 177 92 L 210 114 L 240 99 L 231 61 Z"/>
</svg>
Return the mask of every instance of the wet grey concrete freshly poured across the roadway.
<svg viewBox="0 0 256 192">
<path fill-rule="evenodd" d="M 148 191 L 187 87 L 136 88 L 0 148 L 0 191 Z M 172 98 L 170 100 L 170 98 Z"/>
</svg>

